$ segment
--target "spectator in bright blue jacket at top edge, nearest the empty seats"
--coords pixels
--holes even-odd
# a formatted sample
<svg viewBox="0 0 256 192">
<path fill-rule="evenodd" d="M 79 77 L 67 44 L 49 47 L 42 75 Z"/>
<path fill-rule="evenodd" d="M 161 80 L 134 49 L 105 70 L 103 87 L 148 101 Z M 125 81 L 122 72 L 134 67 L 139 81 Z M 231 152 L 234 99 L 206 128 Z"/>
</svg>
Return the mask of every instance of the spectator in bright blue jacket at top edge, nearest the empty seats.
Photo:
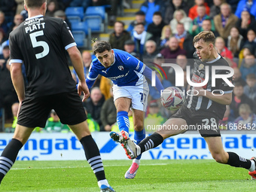
<svg viewBox="0 0 256 192">
<path fill-rule="evenodd" d="M 140 10 L 145 13 L 146 22 L 152 23 L 154 12 L 160 11 L 160 13 L 165 13 L 165 6 L 161 0 L 146 0 L 142 3 Z M 162 17 L 164 17 L 164 15 L 162 15 Z"/>
</svg>

